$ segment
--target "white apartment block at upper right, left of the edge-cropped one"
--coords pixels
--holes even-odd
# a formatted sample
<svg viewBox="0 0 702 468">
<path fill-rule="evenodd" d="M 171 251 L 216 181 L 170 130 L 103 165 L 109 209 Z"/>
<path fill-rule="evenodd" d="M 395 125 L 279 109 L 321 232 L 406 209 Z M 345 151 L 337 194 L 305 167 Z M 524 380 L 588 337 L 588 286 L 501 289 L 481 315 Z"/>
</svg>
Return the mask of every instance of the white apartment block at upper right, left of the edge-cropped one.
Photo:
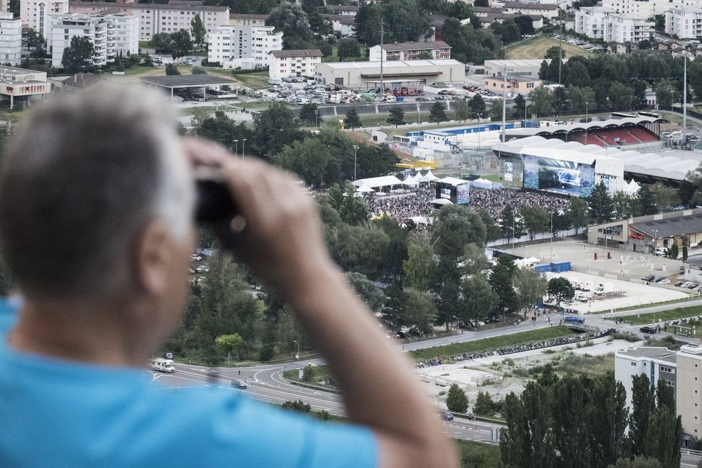
<svg viewBox="0 0 702 468">
<path fill-rule="evenodd" d="M 647 17 L 616 13 L 602 6 L 581 8 L 575 13 L 575 31 L 605 42 L 638 42 L 649 39 L 655 23 Z"/>
</svg>

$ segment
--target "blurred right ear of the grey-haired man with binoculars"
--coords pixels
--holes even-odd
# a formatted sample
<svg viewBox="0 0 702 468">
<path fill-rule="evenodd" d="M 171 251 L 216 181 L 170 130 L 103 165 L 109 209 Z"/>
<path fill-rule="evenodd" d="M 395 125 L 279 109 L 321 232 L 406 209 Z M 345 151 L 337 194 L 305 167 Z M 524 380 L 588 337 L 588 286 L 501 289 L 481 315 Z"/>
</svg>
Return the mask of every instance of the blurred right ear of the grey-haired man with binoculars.
<svg viewBox="0 0 702 468">
<path fill-rule="evenodd" d="M 168 266 L 171 250 L 168 230 L 162 222 L 150 222 L 137 239 L 134 262 L 135 283 L 146 294 L 168 290 Z"/>
</svg>

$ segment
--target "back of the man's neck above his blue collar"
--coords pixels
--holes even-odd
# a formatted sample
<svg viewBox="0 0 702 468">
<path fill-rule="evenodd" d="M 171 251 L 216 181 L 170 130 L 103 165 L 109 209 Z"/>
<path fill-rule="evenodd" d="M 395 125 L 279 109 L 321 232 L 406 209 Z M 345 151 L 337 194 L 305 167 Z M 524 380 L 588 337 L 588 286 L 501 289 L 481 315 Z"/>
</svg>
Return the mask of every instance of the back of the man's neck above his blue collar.
<svg viewBox="0 0 702 468">
<path fill-rule="evenodd" d="M 143 366 L 153 349 L 150 340 L 144 342 L 146 336 L 134 330 L 124 310 L 27 302 L 7 342 L 20 352 L 136 367 Z"/>
</svg>

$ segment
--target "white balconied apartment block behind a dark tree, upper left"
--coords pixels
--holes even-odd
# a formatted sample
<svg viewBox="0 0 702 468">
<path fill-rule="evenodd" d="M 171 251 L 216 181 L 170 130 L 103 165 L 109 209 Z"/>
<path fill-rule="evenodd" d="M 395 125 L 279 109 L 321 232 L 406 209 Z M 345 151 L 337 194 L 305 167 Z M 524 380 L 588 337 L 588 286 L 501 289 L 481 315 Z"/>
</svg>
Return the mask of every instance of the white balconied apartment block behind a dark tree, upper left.
<svg viewBox="0 0 702 468">
<path fill-rule="evenodd" d="M 133 15 L 52 15 L 47 36 L 51 65 L 60 67 L 63 51 L 74 36 L 87 37 L 95 48 L 93 65 L 101 67 L 115 58 L 139 53 L 139 18 Z"/>
</svg>

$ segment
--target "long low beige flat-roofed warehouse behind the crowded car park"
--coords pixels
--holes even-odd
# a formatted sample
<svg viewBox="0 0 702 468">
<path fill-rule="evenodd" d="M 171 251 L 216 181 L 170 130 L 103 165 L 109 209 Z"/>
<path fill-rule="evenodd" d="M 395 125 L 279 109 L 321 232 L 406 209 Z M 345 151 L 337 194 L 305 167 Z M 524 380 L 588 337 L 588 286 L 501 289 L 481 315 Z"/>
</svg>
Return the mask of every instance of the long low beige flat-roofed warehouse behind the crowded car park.
<svg viewBox="0 0 702 468">
<path fill-rule="evenodd" d="M 383 62 L 383 83 L 393 82 L 463 83 L 465 65 L 458 60 L 391 60 Z M 321 84 L 334 84 L 366 90 L 380 81 L 380 62 L 322 62 L 314 70 Z M 371 84 L 373 83 L 373 84 Z"/>
</svg>

